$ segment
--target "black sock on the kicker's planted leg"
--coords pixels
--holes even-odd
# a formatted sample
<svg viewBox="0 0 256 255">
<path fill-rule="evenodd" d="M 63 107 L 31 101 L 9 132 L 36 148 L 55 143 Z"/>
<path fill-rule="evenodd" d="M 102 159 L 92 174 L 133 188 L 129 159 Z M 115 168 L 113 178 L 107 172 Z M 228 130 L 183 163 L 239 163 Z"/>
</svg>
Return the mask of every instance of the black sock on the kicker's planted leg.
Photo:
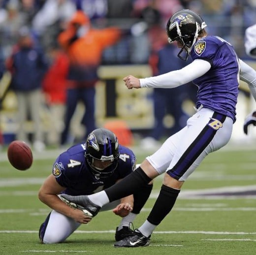
<svg viewBox="0 0 256 255">
<path fill-rule="evenodd" d="M 148 221 L 159 225 L 175 204 L 179 190 L 162 185 L 159 196 L 149 214 Z"/>
</svg>

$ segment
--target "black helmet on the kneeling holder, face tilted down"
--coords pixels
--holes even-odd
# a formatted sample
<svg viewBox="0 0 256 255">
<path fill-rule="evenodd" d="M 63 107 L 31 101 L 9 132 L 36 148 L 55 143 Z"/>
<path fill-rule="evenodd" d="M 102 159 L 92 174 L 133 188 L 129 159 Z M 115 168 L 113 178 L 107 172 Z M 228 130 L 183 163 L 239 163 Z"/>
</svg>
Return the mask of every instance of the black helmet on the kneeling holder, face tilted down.
<svg viewBox="0 0 256 255">
<path fill-rule="evenodd" d="M 108 129 L 97 128 L 86 139 L 85 158 L 91 171 L 96 177 L 108 177 L 117 168 L 119 158 L 119 144 L 116 135 Z M 111 161 L 104 169 L 94 165 L 94 160 Z"/>
</svg>

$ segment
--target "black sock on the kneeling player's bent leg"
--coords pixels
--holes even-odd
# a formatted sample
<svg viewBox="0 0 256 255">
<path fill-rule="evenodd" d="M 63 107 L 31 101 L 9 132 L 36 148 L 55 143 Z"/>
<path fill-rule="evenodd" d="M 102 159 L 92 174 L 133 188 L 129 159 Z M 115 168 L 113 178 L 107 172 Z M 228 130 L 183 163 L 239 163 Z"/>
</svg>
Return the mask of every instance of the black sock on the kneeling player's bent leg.
<svg viewBox="0 0 256 255">
<path fill-rule="evenodd" d="M 152 191 L 153 184 L 143 185 L 139 190 L 133 193 L 134 203 L 132 212 L 135 214 L 139 214 L 142 207 L 147 202 L 150 193 Z"/>
</svg>

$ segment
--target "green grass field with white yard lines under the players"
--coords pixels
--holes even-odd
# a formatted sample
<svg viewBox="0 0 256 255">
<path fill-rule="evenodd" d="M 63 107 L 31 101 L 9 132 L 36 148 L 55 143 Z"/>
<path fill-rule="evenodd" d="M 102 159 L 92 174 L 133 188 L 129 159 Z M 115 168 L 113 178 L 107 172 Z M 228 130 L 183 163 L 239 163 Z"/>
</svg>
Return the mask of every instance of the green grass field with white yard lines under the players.
<svg viewBox="0 0 256 255">
<path fill-rule="evenodd" d="M 147 155 L 134 151 L 138 162 Z M 44 178 L 51 173 L 57 151 L 34 154 L 27 171 L 14 169 L 0 154 L 0 254 L 147 254 L 147 255 L 252 255 L 256 254 L 256 151 L 228 146 L 206 158 L 184 184 L 174 209 L 156 228 L 150 246 L 114 248 L 120 219 L 99 213 L 64 243 L 42 245 L 38 228 L 50 209 L 37 198 Z M 134 227 L 149 214 L 161 178 Z"/>
</svg>

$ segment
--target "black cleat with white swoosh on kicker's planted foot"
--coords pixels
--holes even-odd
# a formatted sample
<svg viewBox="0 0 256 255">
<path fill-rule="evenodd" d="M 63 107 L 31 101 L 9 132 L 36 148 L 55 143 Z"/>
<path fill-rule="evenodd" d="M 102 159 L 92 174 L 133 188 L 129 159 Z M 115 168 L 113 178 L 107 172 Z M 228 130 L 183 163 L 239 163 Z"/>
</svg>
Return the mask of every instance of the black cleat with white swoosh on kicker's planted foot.
<svg viewBox="0 0 256 255">
<path fill-rule="evenodd" d="M 134 235 L 128 236 L 123 240 L 120 240 L 114 244 L 114 247 L 143 247 L 148 246 L 150 243 L 150 237 L 144 236 L 138 229 L 134 230 Z"/>
</svg>

